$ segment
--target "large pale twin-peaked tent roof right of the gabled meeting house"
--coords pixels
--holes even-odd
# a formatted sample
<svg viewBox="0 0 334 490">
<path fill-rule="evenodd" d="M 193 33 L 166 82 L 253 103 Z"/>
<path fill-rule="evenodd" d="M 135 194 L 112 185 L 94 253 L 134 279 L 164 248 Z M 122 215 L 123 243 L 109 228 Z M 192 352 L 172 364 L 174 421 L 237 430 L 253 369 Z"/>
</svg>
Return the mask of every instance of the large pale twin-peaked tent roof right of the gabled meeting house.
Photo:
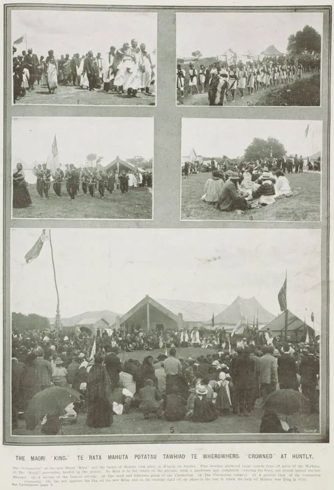
<svg viewBox="0 0 334 490">
<path fill-rule="evenodd" d="M 256 298 L 241 298 L 238 296 L 222 313 L 215 318 L 215 323 L 230 323 L 235 324 L 245 317 L 249 324 L 253 323 L 255 317 L 259 319 L 259 323 L 268 323 L 275 317 L 269 313 Z"/>
</svg>

